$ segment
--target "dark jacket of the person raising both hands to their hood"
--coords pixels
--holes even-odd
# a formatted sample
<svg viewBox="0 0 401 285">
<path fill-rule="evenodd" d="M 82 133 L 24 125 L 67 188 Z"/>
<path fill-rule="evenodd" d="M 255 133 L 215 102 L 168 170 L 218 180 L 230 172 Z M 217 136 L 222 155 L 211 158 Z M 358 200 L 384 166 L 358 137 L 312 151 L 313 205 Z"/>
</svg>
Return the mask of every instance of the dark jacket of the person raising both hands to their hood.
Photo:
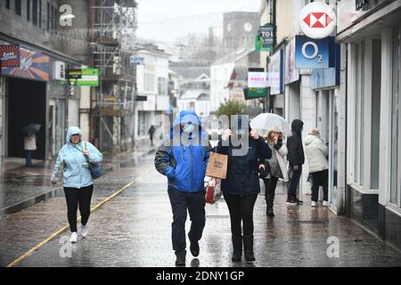
<svg viewBox="0 0 401 285">
<path fill-rule="evenodd" d="M 233 195 L 257 194 L 260 191 L 258 159 L 270 159 L 272 151 L 262 137 L 258 140 L 250 137 L 246 155 L 234 156 L 233 151 L 239 149 L 241 146 L 234 147 L 231 139 L 228 146 L 223 146 L 221 139 L 217 144 L 217 153 L 228 155 L 227 178 L 221 182 L 221 191 Z"/>
</svg>

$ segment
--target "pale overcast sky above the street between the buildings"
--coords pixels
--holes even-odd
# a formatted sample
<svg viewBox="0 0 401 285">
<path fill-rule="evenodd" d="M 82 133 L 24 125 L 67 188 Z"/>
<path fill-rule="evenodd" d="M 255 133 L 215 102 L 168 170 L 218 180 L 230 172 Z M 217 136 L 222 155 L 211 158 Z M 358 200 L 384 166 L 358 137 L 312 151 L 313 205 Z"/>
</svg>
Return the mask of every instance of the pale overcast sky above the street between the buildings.
<svg viewBox="0 0 401 285">
<path fill-rule="evenodd" d="M 137 37 L 173 42 L 190 32 L 207 33 L 223 12 L 258 12 L 260 0 L 138 0 Z"/>
</svg>

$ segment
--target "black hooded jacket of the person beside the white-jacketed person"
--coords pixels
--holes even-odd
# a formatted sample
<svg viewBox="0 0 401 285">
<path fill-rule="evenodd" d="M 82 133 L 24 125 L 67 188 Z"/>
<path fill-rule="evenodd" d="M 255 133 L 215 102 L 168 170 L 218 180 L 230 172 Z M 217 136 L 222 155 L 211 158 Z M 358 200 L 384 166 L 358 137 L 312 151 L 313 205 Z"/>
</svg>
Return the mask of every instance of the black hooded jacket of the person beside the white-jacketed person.
<svg viewBox="0 0 401 285">
<path fill-rule="evenodd" d="M 287 160 L 290 167 L 301 166 L 305 163 L 304 147 L 302 146 L 301 128 L 304 122 L 294 119 L 291 124 L 292 135 L 287 139 Z"/>
</svg>

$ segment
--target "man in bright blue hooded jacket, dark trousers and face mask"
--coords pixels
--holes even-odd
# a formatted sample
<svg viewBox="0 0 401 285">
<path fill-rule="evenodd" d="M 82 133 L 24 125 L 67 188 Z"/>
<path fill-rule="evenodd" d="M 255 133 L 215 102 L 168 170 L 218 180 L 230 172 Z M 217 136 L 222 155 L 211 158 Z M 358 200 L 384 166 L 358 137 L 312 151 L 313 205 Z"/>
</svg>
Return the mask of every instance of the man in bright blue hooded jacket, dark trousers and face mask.
<svg viewBox="0 0 401 285">
<path fill-rule="evenodd" d="M 155 156 L 155 167 L 168 177 L 168 197 L 173 211 L 172 241 L 176 265 L 185 265 L 185 221 L 191 217 L 192 256 L 199 255 L 199 240 L 205 227 L 205 190 L 203 180 L 208 166 L 210 144 L 201 131 L 201 120 L 193 111 L 181 111 Z"/>
</svg>

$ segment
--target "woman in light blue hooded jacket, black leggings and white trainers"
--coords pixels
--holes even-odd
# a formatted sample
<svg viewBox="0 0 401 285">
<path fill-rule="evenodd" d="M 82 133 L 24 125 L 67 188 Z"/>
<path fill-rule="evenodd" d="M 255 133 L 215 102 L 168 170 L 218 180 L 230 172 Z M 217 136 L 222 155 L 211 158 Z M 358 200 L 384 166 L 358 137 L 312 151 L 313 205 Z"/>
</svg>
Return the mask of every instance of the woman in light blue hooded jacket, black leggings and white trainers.
<svg viewBox="0 0 401 285">
<path fill-rule="evenodd" d="M 77 242 L 77 211 L 81 213 L 81 235 L 87 235 L 87 221 L 90 215 L 94 179 L 89 171 L 89 163 L 98 164 L 103 159 L 102 153 L 90 142 L 82 141 L 82 131 L 78 126 L 71 126 L 67 133 L 66 144 L 59 151 L 54 165 L 52 183 L 57 183 L 59 167 L 63 165 L 63 186 L 67 199 L 70 223 L 70 242 Z"/>
</svg>

